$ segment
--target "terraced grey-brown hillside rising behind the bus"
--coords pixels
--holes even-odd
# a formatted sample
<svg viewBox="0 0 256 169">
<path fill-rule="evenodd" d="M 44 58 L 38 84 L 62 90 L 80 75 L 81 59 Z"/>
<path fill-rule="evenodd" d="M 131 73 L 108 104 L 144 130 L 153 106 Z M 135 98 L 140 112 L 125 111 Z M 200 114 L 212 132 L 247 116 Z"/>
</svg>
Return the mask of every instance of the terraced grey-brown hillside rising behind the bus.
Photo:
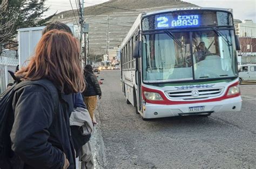
<svg viewBox="0 0 256 169">
<path fill-rule="evenodd" d="M 84 9 L 85 22 L 90 25 L 89 54 L 92 58 L 109 54 L 109 59 L 116 56 L 118 45 L 130 30 L 139 13 L 196 6 L 179 0 L 112 0 L 100 5 Z M 78 16 L 76 18 L 78 19 Z M 72 24 L 78 22 L 75 21 L 72 10 L 59 13 L 53 18 L 53 21 Z"/>
</svg>

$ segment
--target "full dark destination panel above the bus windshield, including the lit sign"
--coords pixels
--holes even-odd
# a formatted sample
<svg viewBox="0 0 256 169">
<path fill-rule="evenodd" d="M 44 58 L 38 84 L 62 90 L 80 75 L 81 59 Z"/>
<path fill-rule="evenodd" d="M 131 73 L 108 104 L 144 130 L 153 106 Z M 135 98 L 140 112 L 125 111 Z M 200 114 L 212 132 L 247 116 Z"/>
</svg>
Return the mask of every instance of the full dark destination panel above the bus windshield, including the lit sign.
<svg viewBox="0 0 256 169">
<path fill-rule="evenodd" d="M 232 14 L 225 11 L 196 10 L 156 13 L 142 19 L 142 30 L 203 28 L 204 26 L 231 26 Z"/>
</svg>

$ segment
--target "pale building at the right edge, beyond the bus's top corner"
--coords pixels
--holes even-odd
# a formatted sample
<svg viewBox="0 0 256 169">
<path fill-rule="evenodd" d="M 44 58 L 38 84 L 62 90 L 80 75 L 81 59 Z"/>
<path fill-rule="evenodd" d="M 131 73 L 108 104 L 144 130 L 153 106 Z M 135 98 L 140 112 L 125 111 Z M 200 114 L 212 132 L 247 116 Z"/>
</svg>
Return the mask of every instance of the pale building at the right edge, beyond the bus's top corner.
<svg viewBox="0 0 256 169">
<path fill-rule="evenodd" d="M 242 23 L 235 24 L 235 33 L 239 37 L 256 37 L 256 23 L 247 19 Z"/>
</svg>

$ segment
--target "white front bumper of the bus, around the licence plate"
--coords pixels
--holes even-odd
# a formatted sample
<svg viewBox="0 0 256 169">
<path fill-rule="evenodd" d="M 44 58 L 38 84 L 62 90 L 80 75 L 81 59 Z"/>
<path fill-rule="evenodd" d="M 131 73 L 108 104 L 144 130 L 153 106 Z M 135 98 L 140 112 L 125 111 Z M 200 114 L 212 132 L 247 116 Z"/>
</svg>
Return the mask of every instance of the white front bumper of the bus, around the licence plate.
<svg viewBox="0 0 256 169">
<path fill-rule="evenodd" d="M 205 102 L 205 103 L 193 103 L 193 104 L 178 104 L 178 105 L 160 105 L 146 103 L 143 112 L 144 118 L 162 118 L 173 116 L 189 116 L 197 114 L 207 114 L 213 112 L 233 112 L 240 111 L 242 106 L 241 96 L 221 100 L 219 102 Z M 203 111 L 193 111 L 190 108 L 204 107 Z"/>
</svg>

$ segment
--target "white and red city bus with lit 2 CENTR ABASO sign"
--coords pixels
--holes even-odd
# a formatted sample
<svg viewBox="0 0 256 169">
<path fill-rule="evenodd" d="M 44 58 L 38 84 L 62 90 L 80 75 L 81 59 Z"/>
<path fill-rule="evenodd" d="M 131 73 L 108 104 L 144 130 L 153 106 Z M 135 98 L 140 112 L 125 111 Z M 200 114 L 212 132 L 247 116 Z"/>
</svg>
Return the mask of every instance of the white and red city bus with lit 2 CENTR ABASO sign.
<svg viewBox="0 0 256 169">
<path fill-rule="evenodd" d="M 241 110 L 232 9 L 141 13 L 120 45 L 126 103 L 143 119 Z"/>
</svg>

